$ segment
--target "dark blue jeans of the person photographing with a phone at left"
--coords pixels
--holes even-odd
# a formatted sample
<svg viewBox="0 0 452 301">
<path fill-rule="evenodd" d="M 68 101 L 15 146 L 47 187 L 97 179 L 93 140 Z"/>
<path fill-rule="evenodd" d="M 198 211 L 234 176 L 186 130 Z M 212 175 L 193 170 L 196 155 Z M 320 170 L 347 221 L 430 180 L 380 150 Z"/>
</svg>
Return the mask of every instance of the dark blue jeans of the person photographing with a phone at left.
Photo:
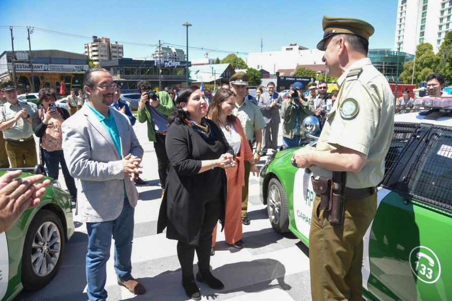
<svg viewBox="0 0 452 301">
<path fill-rule="evenodd" d="M 77 196 L 77 188 L 75 187 L 75 180 L 69 173 L 69 170 L 64 160 L 63 150 L 55 150 L 54 152 L 48 152 L 46 149 L 42 149 L 42 155 L 44 161 L 46 162 L 47 171 L 49 172 L 49 177 L 58 180 L 58 168 L 61 164 L 61 171 L 63 172 L 64 182 L 69 190 L 69 194 L 72 197 Z"/>
</svg>

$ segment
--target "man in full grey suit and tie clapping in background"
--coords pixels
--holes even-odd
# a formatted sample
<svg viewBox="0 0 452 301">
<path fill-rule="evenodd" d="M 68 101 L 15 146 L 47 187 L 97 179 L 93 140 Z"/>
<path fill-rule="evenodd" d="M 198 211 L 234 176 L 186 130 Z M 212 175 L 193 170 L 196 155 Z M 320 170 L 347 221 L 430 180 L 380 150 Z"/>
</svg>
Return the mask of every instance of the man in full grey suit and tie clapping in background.
<svg viewBox="0 0 452 301">
<path fill-rule="evenodd" d="M 275 92 L 275 83 L 267 84 L 267 91 L 260 95 L 257 106 L 265 119 L 266 126 L 262 130 L 263 142 L 261 156 L 267 154 L 268 147 L 276 152 L 278 149 L 278 130 L 281 123 L 280 109 L 283 104 L 281 96 Z M 270 137 L 271 135 L 271 137 Z"/>
</svg>

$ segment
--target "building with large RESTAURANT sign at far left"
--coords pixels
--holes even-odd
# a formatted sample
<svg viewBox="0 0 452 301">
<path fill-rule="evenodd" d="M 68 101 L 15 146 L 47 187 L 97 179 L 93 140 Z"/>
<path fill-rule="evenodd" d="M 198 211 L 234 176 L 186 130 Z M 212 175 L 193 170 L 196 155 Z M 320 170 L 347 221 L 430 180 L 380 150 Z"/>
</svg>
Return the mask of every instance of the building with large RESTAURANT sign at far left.
<svg viewBox="0 0 452 301">
<path fill-rule="evenodd" d="M 15 51 L 14 56 L 5 51 L 0 55 L 0 80 L 14 80 L 18 94 L 38 92 L 44 87 L 58 93 L 63 83 L 67 93 L 81 87 L 87 59 L 85 55 L 60 50 L 35 50 L 32 56 L 28 51 Z"/>
</svg>

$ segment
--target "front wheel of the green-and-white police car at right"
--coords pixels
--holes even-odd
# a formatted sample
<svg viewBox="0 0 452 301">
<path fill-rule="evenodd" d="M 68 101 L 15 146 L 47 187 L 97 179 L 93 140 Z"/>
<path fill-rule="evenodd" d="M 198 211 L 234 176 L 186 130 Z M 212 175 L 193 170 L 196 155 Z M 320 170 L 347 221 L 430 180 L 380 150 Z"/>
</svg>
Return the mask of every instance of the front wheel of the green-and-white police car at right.
<svg viewBox="0 0 452 301">
<path fill-rule="evenodd" d="M 277 178 L 268 182 L 267 213 L 273 229 L 279 233 L 289 231 L 289 212 L 287 210 L 287 197 L 283 185 Z"/>
</svg>

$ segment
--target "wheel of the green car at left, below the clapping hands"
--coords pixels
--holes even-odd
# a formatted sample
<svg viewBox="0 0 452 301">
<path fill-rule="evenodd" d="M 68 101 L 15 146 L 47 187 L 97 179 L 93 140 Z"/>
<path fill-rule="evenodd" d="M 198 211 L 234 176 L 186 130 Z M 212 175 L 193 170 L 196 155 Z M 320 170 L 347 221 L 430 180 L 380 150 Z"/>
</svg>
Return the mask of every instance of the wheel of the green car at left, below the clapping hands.
<svg viewBox="0 0 452 301">
<path fill-rule="evenodd" d="M 52 211 L 40 210 L 25 237 L 22 253 L 24 289 L 39 289 L 52 280 L 60 268 L 64 245 L 65 234 L 58 216 Z"/>
</svg>

